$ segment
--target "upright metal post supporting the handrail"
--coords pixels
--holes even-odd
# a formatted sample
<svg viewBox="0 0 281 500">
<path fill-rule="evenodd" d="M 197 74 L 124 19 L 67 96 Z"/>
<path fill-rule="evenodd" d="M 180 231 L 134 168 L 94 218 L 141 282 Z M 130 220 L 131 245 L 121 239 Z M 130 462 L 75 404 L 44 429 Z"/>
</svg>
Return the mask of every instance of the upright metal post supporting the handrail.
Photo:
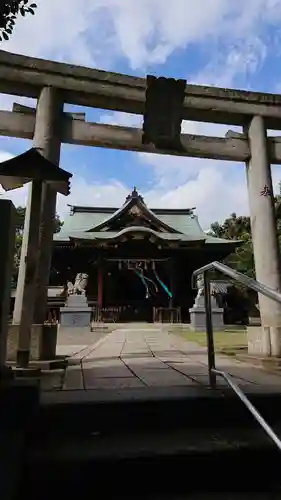
<svg viewBox="0 0 281 500">
<path fill-rule="evenodd" d="M 212 321 L 212 304 L 211 304 L 211 289 L 208 271 L 203 274 L 204 277 L 204 299 L 205 299 L 205 314 L 206 314 L 206 333 L 207 333 L 207 347 L 208 347 L 208 371 L 209 382 L 212 388 L 216 387 L 217 376 L 214 370 L 215 365 L 215 347 L 214 347 L 214 332 Z"/>
</svg>

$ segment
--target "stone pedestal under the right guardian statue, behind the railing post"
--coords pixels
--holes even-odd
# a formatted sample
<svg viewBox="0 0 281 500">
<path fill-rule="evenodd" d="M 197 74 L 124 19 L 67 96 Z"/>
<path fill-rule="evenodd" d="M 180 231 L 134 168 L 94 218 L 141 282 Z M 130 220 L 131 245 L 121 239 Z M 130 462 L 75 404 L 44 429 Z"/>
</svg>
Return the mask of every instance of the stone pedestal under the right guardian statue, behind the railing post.
<svg viewBox="0 0 281 500">
<path fill-rule="evenodd" d="M 223 308 L 217 306 L 214 297 L 211 297 L 212 321 L 214 330 L 224 330 Z M 194 332 L 206 330 L 206 310 L 204 296 L 195 299 L 194 306 L 189 309 L 190 329 Z"/>
</svg>

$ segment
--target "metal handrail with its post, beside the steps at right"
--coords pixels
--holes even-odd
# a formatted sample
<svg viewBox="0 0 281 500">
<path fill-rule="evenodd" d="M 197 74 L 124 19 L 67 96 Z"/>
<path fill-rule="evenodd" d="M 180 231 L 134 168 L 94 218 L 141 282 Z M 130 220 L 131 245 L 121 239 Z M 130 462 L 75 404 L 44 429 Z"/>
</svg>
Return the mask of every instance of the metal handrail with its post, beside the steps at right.
<svg viewBox="0 0 281 500">
<path fill-rule="evenodd" d="M 265 433 L 270 437 L 270 439 L 281 451 L 281 440 L 279 439 L 277 434 L 275 434 L 273 429 L 268 425 L 268 423 L 264 420 L 264 418 L 261 416 L 258 410 L 254 407 L 254 405 L 250 402 L 246 394 L 244 394 L 244 392 L 238 387 L 238 385 L 236 385 L 233 382 L 229 373 L 216 369 L 214 332 L 212 323 L 211 290 L 210 290 L 210 279 L 208 276 L 208 271 L 212 269 L 220 271 L 226 276 L 229 276 L 230 278 L 238 281 L 239 283 L 242 283 L 243 285 L 251 288 L 252 290 L 255 290 L 256 292 L 261 293 L 262 295 L 265 295 L 266 297 L 272 300 L 275 300 L 276 302 L 281 303 L 281 294 L 279 292 L 276 292 L 275 290 L 272 290 L 272 288 L 263 285 L 259 281 L 249 278 L 248 276 L 245 276 L 244 274 L 235 271 L 231 267 L 228 267 L 225 264 L 221 264 L 220 262 L 217 261 L 211 262 L 210 264 L 207 264 L 206 266 L 201 267 L 200 269 L 196 269 L 196 271 L 194 271 L 192 274 L 192 277 L 198 276 L 200 274 L 203 275 L 204 278 L 204 299 L 205 299 L 205 310 L 206 310 L 206 333 L 207 333 L 207 346 L 208 346 L 208 371 L 209 371 L 210 386 L 212 388 L 215 388 L 217 382 L 217 376 L 222 377 L 227 382 L 229 387 L 239 397 L 242 403 L 244 403 L 246 408 L 253 415 L 256 421 L 260 424 Z"/>
</svg>

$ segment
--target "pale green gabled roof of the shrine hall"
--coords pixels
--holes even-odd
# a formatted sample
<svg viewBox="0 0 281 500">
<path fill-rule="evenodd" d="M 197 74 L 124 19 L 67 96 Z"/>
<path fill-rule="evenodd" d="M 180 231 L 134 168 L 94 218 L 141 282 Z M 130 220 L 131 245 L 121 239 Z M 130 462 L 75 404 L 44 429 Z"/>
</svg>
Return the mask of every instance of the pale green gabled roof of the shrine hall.
<svg viewBox="0 0 281 500">
<path fill-rule="evenodd" d="M 94 245 L 123 242 L 126 238 L 149 238 L 180 246 L 195 242 L 221 244 L 229 246 L 230 251 L 239 244 L 207 235 L 194 208 L 149 209 L 135 188 L 120 208 L 71 206 L 61 231 L 54 235 L 54 243 Z"/>
</svg>

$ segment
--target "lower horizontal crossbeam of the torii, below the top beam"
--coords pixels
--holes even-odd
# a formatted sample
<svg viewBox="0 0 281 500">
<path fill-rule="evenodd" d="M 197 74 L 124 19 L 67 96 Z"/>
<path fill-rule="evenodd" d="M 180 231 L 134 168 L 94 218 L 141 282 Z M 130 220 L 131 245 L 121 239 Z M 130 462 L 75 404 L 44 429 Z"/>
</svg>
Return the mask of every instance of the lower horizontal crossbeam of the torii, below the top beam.
<svg viewBox="0 0 281 500">
<path fill-rule="evenodd" d="M 35 114 L 0 111 L 0 135 L 33 139 Z M 65 114 L 62 123 L 62 142 L 83 146 L 96 146 L 142 153 L 174 154 L 194 158 L 245 162 L 249 146 L 245 138 L 208 137 L 182 134 L 182 151 L 165 151 L 142 144 L 142 130 L 75 120 Z M 281 163 L 281 137 L 269 138 L 271 163 Z"/>
</svg>

